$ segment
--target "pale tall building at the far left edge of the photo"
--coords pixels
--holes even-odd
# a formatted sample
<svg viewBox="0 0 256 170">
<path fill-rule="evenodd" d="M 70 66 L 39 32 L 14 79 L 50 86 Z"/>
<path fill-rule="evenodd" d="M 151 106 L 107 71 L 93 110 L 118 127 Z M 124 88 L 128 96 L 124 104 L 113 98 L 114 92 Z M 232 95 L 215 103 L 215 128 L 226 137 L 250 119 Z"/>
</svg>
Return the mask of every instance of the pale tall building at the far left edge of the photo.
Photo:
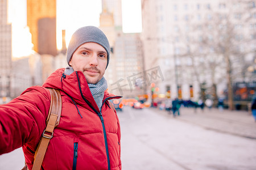
<svg viewBox="0 0 256 170">
<path fill-rule="evenodd" d="M 0 3 L 0 99 L 6 103 L 11 96 L 11 24 L 7 23 L 7 0 Z"/>
</svg>

